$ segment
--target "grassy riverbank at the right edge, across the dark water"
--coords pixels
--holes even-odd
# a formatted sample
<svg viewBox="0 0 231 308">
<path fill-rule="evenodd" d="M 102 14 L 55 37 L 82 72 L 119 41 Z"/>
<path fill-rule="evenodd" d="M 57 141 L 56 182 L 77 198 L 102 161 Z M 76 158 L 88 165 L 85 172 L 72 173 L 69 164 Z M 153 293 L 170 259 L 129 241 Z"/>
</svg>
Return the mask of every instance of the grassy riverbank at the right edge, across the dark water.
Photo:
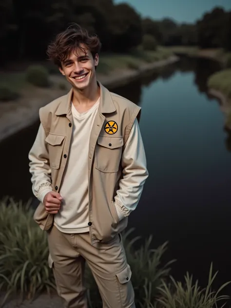
<svg viewBox="0 0 231 308">
<path fill-rule="evenodd" d="M 209 93 L 220 101 L 225 128 L 231 131 L 231 69 L 213 74 L 208 80 Z"/>
</svg>

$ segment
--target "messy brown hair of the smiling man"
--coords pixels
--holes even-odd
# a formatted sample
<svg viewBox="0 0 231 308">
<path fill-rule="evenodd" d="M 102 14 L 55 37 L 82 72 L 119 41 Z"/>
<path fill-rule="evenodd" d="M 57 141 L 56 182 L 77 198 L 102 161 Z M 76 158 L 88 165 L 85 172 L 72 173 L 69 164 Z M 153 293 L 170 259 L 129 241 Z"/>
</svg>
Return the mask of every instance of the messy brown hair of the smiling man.
<svg viewBox="0 0 231 308">
<path fill-rule="evenodd" d="M 51 61 L 61 67 L 61 63 L 77 49 L 81 49 L 85 53 L 89 50 L 95 58 L 101 49 L 101 43 L 96 35 L 89 35 L 86 29 L 78 24 L 72 24 L 65 31 L 59 33 L 55 40 L 49 44 L 47 55 Z"/>
</svg>

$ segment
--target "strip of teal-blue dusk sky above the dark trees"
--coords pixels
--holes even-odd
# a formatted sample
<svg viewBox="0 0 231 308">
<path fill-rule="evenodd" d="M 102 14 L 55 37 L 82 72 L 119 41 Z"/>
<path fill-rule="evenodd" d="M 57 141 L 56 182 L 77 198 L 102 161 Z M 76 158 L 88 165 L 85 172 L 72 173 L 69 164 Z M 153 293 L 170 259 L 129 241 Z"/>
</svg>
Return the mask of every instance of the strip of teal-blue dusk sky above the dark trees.
<svg viewBox="0 0 231 308">
<path fill-rule="evenodd" d="M 132 5 L 142 17 L 170 17 L 179 22 L 194 22 L 215 6 L 231 10 L 231 0 L 114 0 L 114 3 L 120 2 Z"/>
</svg>

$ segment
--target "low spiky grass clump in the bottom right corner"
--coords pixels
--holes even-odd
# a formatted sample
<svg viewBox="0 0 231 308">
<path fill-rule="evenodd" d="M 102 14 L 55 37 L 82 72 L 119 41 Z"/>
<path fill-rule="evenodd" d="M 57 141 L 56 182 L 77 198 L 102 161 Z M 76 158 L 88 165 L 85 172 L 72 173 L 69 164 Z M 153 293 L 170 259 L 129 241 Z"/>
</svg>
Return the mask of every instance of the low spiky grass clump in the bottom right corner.
<svg viewBox="0 0 231 308">
<path fill-rule="evenodd" d="M 161 292 L 161 297 L 157 302 L 161 304 L 161 308 L 217 308 L 218 302 L 230 298 L 226 295 L 219 295 L 230 282 L 223 284 L 218 291 L 212 291 L 212 283 L 216 275 L 217 272 L 212 276 L 211 264 L 209 281 L 205 289 L 198 286 L 198 280 L 193 284 L 193 276 L 190 276 L 188 272 L 185 276 L 185 285 L 176 282 L 171 276 L 172 284 L 168 286 L 163 282 L 163 286 L 157 288 Z M 226 303 L 222 307 L 225 305 Z"/>
</svg>

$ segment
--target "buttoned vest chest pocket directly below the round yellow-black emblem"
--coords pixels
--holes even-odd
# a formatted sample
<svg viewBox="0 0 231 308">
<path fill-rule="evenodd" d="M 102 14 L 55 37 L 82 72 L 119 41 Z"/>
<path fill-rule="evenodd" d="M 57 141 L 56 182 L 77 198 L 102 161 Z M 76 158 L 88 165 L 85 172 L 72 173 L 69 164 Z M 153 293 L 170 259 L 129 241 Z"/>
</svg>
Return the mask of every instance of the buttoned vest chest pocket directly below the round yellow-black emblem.
<svg viewBox="0 0 231 308">
<path fill-rule="evenodd" d="M 95 166 L 105 173 L 117 172 L 122 155 L 123 137 L 99 136 L 96 144 Z"/>
</svg>

